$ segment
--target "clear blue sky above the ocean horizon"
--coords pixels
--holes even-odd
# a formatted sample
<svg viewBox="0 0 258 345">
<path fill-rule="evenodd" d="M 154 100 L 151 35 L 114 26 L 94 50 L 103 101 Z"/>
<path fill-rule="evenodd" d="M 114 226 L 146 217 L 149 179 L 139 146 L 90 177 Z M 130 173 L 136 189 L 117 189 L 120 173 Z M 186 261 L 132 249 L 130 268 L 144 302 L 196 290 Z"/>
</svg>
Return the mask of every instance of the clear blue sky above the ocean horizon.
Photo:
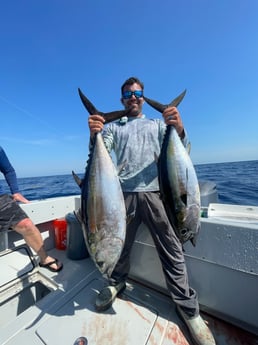
<svg viewBox="0 0 258 345">
<path fill-rule="evenodd" d="M 194 164 L 258 159 L 257 0 L 8 0 L 0 40 L 0 145 L 18 177 L 83 172 L 77 89 L 99 110 L 122 109 L 130 76 L 162 103 L 187 89 Z"/>
</svg>

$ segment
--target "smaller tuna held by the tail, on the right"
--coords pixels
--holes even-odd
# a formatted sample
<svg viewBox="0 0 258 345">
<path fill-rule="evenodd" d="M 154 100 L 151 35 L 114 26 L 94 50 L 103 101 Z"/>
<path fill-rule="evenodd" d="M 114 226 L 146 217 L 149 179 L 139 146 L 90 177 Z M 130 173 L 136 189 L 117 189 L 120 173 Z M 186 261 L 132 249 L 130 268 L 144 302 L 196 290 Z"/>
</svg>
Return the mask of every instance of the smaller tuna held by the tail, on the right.
<svg viewBox="0 0 258 345">
<path fill-rule="evenodd" d="M 146 102 L 163 113 L 168 106 L 178 106 L 184 91 L 169 105 L 149 98 Z M 196 242 L 200 228 L 200 190 L 194 166 L 174 126 L 168 125 L 158 159 L 159 183 L 168 218 L 182 243 Z"/>
</svg>

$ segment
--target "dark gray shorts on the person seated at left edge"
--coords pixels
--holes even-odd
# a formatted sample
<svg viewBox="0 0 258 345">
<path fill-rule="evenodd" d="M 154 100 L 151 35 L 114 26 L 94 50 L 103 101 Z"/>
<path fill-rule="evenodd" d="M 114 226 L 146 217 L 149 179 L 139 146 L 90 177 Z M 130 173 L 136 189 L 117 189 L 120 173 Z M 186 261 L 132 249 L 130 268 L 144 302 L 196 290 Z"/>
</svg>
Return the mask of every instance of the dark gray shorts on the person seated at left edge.
<svg viewBox="0 0 258 345">
<path fill-rule="evenodd" d="M 13 228 L 21 220 L 28 218 L 11 195 L 0 195 L 0 231 Z"/>
</svg>

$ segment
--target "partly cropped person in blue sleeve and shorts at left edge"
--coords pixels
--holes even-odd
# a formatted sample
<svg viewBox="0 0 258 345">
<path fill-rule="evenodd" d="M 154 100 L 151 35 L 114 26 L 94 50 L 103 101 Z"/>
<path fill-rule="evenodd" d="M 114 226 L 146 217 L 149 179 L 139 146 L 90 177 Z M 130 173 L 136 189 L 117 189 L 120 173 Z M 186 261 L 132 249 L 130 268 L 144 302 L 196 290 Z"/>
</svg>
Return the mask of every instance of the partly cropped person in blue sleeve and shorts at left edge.
<svg viewBox="0 0 258 345">
<path fill-rule="evenodd" d="M 17 203 L 17 201 L 29 203 L 29 200 L 19 192 L 16 172 L 1 146 L 0 171 L 3 173 L 12 194 L 4 194 L 0 185 L 0 232 L 8 229 L 15 230 L 23 236 L 27 245 L 37 253 L 40 267 L 47 268 L 52 272 L 61 271 L 63 264 L 46 253 L 39 229 Z"/>
</svg>

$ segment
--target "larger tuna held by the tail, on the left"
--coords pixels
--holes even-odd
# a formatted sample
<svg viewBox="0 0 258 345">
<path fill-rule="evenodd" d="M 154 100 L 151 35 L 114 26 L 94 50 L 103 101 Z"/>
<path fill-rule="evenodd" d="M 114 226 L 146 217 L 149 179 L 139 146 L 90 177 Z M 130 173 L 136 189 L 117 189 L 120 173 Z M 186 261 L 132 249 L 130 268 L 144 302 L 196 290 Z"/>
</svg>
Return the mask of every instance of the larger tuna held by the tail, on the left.
<svg viewBox="0 0 258 345">
<path fill-rule="evenodd" d="M 79 94 L 88 112 L 102 115 L 105 123 L 128 114 L 99 112 L 80 89 Z M 93 138 L 84 178 L 74 177 L 81 188 L 78 218 L 88 251 L 100 272 L 110 277 L 124 246 L 126 210 L 117 171 L 101 133 Z"/>
</svg>

